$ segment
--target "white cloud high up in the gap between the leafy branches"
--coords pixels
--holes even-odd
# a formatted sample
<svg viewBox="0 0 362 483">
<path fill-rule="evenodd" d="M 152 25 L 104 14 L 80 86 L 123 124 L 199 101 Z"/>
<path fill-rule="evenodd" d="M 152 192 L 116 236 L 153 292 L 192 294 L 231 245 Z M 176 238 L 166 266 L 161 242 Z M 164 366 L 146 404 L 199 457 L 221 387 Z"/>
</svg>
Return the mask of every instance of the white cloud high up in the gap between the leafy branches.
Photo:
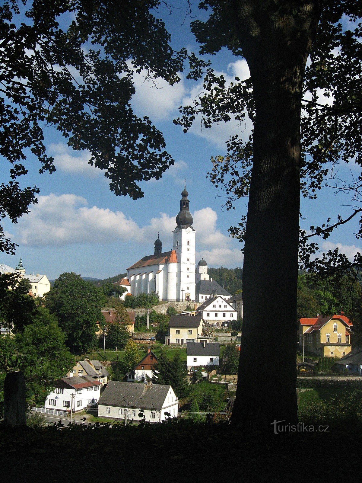
<svg viewBox="0 0 362 483">
<path fill-rule="evenodd" d="M 179 73 L 180 82 L 169 85 L 167 81 L 155 78 L 147 79 L 147 71 L 133 72 L 136 93 L 132 97 L 132 104 L 139 115 L 147 115 L 154 121 L 173 117 L 181 105 L 181 99 L 186 94 L 184 77 Z"/>
</svg>

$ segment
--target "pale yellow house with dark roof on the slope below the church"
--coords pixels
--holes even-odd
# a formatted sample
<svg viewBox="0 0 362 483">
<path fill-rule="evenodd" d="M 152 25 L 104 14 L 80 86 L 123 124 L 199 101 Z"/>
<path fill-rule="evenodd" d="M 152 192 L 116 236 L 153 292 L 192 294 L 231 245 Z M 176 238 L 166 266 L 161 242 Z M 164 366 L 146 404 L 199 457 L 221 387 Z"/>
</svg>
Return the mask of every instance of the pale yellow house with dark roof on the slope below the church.
<svg viewBox="0 0 362 483">
<path fill-rule="evenodd" d="M 165 344 L 184 345 L 197 342 L 202 335 L 205 321 L 201 315 L 173 315 L 168 323 Z"/>
</svg>

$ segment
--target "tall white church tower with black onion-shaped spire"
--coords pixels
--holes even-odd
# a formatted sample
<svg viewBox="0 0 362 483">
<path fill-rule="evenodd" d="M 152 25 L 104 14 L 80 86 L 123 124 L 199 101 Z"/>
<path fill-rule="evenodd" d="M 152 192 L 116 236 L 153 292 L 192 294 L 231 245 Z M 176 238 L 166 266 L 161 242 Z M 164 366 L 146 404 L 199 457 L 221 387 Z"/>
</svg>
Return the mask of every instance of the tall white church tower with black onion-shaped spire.
<svg viewBox="0 0 362 483">
<path fill-rule="evenodd" d="M 176 300 L 195 300 L 195 230 L 190 213 L 190 201 L 185 188 L 181 193 L 180 212 L 173 231 L 173 250 L 177 256 Z"/>
</svg>

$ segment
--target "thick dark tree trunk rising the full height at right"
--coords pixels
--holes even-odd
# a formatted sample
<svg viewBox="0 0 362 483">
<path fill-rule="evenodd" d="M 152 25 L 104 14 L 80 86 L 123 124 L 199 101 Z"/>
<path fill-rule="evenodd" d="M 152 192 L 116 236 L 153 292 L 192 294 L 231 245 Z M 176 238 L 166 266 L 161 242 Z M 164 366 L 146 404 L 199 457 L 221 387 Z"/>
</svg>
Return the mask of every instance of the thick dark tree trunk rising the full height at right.
<svg viewBox="0 0 362 483">
<path fill-rule="evenodd" d="M 280 2 L 282 7 L 271 2 L 277 10 L 270 13 L 269 2 L 235 3 L 256 122 L 243 267 L 243 330 L 231 423 L 259 431 L 273 429 L 270 424 L 275 420 L 297 422 L 300 112 L 303 73 L 319 8 L 313 1 L 302 8 L 300 2 Z"/>
</svg>

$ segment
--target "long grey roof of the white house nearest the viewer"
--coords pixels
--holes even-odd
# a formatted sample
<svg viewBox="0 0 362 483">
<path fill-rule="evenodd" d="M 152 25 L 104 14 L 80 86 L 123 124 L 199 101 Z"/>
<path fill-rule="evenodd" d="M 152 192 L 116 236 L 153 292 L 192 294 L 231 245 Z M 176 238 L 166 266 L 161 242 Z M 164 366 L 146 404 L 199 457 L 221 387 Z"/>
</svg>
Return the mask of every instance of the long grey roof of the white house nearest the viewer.
<svg viewBox="0 0 362 483">
<path fill-rule="evenodd" d="M 167 384 L 136 384 L 110 381 L 98 405 L 160 410 L 171 386 Z"/>
</svg>

